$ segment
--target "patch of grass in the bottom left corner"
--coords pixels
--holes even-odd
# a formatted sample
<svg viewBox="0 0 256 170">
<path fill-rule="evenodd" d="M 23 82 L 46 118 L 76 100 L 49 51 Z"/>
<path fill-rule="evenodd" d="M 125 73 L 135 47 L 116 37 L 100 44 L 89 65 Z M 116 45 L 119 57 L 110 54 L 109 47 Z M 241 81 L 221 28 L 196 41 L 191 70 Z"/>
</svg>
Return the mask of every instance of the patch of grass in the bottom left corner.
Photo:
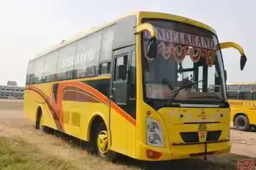
<svg viewBox="0 0 256 170">
<path fill-rule="evenodd" d="M 35 145 L 23 138 L 0 137 L 0 169 L 2 170 L 69 170 L 76 169 L 68 160 L 44 156 Z"/>
</svg>

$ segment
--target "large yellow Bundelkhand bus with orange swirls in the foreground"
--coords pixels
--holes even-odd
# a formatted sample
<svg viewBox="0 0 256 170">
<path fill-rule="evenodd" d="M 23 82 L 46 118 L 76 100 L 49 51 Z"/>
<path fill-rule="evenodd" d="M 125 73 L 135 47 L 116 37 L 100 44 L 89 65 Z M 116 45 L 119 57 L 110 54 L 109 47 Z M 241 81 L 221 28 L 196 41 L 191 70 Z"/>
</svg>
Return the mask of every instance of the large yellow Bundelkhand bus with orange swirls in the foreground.
<svg viewBox="0 0 256 170">
<path fill-rule="evenodd" d="M 230 151 L 222 48 L 204 23 L 131 12 L 29 60 L 24 113 L 88 141 L 107 160 L 171 160 Z"/>
</svg>

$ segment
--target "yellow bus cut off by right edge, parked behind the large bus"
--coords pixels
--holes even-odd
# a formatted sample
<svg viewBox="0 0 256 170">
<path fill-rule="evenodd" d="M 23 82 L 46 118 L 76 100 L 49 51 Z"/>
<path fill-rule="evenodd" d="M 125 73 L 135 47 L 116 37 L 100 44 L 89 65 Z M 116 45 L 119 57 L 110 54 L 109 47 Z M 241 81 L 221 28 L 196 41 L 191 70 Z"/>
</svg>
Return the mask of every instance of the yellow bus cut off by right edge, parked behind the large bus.
<svg viewBox="0 0 256 170">
<path fill-rule="evenodd" d="M 256 83 L 227 84 L 227 99 L 230 103 L 230 121 L 237 130 L 248 131 L 256 127 Z"/>
</svg>

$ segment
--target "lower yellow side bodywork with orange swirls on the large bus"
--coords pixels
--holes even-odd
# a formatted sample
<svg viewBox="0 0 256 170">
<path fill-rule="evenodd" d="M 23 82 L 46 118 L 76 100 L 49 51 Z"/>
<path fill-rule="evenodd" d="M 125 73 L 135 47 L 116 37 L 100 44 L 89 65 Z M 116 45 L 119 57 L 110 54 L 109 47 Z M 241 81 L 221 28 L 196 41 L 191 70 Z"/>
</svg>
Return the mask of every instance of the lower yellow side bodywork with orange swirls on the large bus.
<svg viewBox="0 0 256 170">
<path fill-rule="evenodd" d="M 109 127 L 110 106 L 107 97 L 109 84 L 110 78 L 27 86 L 24 103 L 26 117 L 35 122 L 36 111 L 40 106 L 44 125 L 88 141 L 90 135 L 88 130 L 93 116 L 101 116 Z M 111 115 L 111 119 L 115 122 L 111 129 L 111 149 L 124 155 L 129 153 L 134 155 L 135 119 L 113 102 Z M 57 127 L 58 123 L 61 127 Z"/>
</svg>

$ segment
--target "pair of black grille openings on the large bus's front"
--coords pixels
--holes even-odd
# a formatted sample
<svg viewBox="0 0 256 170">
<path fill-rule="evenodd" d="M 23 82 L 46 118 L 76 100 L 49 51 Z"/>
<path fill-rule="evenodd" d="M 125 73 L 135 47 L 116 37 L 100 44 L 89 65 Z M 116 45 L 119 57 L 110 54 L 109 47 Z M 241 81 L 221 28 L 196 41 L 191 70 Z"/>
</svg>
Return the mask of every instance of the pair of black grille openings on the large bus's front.
<svg viewBox="0 0 256 170">
<path fill-rule="evenodd" d="M 179 133 L 182 140 L 186 143 L 199 142 L 198 132 L 181 132 Z M 221 136 L 221 130 L 207 131 L 207 141 L 218 141 Z"/>
</svg>

